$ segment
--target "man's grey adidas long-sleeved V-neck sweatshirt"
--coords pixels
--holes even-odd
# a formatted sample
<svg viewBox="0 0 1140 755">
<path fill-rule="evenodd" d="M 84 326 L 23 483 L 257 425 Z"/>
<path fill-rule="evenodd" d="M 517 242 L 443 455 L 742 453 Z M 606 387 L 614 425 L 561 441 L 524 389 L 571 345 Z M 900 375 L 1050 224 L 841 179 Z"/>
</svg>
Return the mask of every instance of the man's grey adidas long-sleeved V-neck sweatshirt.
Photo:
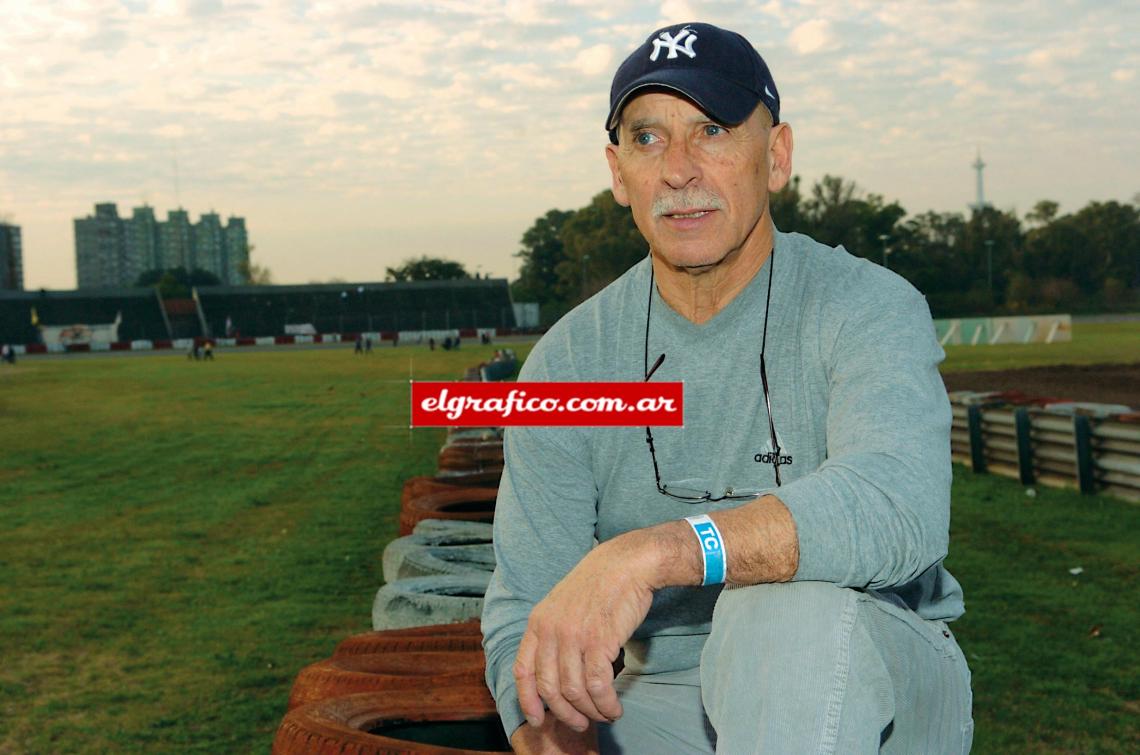
<svg viewBox="0 0 1140 755">
<path fill-rule="evenodd" d="M 784 462 L 775 487 L 759 355 L 769 271 L 768 388 Z M 644 379 L 644 260 L 563 317 L 520 381 Z M 885 593 L 928 619 L 962 614 L 942 567 L 950 528 L 950 404 L 926 300 L 889 270 L 776 234 L 775 254 L 709 322 L 652 293 L 652 380 L 684 382 L 683 428 L 654 428 L 663 482 L 719 494 L 771 489 L 799 536 L 797 581 Z M 621 533 L 740 505 L 657 490 L 644 428 L 508 428 L 483 608 L 487 682 L 504 726 L 522 721 L 512 676 L 531 608 L 594 546 Z M 694 535 L 695 538 L 695 535 Z M 731 560 L 732 554 L 728 554 Z M 654 594 L 626 667 L 695 667 L 719 586 Z"/>
</svg>

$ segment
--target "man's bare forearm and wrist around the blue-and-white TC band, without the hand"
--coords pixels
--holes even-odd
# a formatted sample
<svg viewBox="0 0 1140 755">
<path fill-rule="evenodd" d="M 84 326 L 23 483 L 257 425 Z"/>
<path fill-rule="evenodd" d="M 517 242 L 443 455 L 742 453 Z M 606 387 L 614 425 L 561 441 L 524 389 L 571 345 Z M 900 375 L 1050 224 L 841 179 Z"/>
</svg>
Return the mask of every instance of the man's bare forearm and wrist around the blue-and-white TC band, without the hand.
<svg viewBox="0 0 1140 755">
<path fill-rule="evenodd" d="M 796 522 L 779 498 L 766 495 L 709 515 L 724 538 L 728 584 L 788 582 L 796 576 L 799 567 Z M 669 521 L 628 536 L 657 554 L 654 590 L 701 583 L 703 555 L 689 522 Z"/>
</svg>

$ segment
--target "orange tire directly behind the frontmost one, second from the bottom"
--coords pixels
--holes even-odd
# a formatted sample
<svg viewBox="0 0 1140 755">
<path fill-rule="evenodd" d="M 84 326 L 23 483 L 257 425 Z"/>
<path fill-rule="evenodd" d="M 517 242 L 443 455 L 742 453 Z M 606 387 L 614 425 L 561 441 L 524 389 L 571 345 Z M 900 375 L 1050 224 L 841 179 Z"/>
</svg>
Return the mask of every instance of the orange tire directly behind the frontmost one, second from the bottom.
<svg viewBox="0 0 1140 755">
<path fill-rule="evenodd" d="M 388 652 L 328 658 L 301 669 L 288 709 L 357 692 L 478 687 L 483 683 L 482 650 Z"/>
</svg>

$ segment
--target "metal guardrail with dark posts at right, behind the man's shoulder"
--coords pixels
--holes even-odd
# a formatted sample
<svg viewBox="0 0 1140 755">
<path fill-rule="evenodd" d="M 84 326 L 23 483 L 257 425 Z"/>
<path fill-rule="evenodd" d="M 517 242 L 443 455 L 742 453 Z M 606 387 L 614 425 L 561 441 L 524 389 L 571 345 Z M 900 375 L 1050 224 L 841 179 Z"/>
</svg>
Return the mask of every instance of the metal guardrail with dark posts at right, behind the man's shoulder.
<svg viewBox="0 0 1140 755">
<path fill-rule="evenodd" d="M 1140 501 L 1140 414 L 1127 407 L 959 391 L 951 409 L 951 457 L 976 472 Z"/>
</svg>

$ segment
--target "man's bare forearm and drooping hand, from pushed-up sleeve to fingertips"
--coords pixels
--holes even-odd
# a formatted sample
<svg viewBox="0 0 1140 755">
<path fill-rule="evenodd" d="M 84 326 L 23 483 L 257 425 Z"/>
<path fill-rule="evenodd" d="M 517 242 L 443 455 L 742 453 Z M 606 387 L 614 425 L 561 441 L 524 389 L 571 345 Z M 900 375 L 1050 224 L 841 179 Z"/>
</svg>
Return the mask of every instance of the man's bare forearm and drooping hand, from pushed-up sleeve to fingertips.
<svg viewBox="0 0 1140 755">
<path fill-rule="evenodd" d="M 791 512 L 775 496 L 712 514 L 728 554 L 727 582 L 787 582 L 799 565 Z M 686 521 L 635 529 L 602 543 L 578 562 L 530 612 L 514 661 L 519 705 L 531 728 L 549 707 L 575 731 L 616 721 L 613 660 L 645 620 L 653 591 L 699 585 L 700 542 Z M 526 728 L 526 726 L 523 726 Z"/>
</svg>

